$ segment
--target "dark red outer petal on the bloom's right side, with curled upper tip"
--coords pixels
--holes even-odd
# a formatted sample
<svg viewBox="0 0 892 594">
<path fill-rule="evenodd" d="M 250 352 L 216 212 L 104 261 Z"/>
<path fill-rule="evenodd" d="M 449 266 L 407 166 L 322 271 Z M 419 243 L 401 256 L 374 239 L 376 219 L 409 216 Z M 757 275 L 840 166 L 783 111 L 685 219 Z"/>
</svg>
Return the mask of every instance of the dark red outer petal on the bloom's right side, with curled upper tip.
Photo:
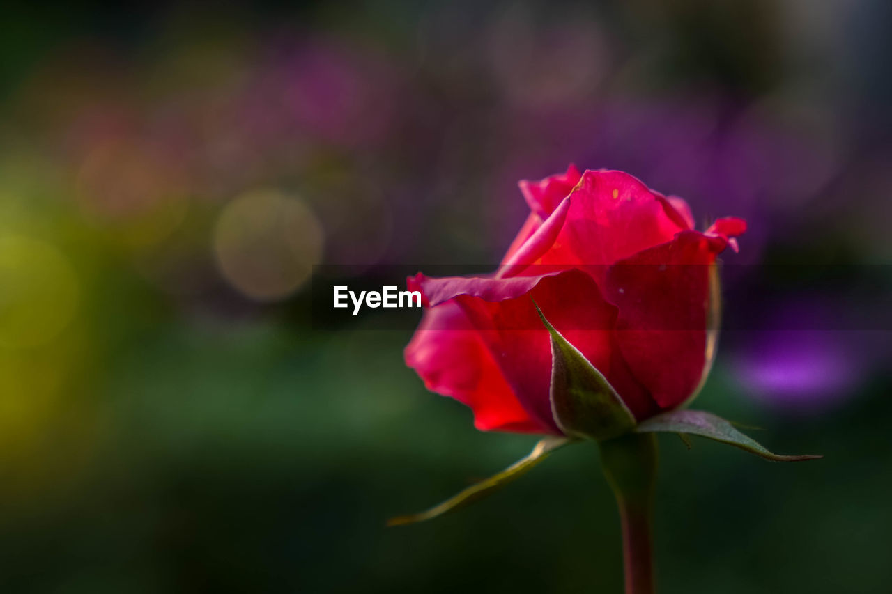
<svg viewBox="0 0 892 594">
<path fill-rule="evenodd" d="M 687 400 L 711 360 L 711 268 L 728 242 L 685 231 L 607 271 L 605 293 L 619 308 L 616 343 L 662 408 Z"/>
</svg>

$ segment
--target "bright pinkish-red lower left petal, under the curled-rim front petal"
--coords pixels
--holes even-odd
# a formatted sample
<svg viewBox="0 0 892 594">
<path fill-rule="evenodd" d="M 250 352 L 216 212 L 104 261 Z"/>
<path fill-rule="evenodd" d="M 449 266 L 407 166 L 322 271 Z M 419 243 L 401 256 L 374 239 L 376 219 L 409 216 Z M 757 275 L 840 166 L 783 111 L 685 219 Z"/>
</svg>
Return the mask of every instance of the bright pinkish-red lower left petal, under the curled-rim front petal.
<svg viewBox="0 0 892 594">
<path fill-rule="evenodd" d="M 544 433 L 531 418 L 492 360 L 465 313 L 455 302 L 425 311 L 404 352 L 425 387 L 466 404 L 482 431 Z"/>
</svg>

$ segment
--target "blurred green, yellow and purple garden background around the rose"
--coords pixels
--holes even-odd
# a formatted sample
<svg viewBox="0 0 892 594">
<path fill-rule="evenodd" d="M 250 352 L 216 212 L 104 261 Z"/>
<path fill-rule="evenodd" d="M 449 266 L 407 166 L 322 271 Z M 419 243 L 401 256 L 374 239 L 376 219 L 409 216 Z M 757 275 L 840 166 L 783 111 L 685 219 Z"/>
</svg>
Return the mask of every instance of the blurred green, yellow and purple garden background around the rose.
<svg viewBox="0 0 892 594">
<path fill-rule="evenodd" d="M 409 331 L 310 313 L 316 264 L 497 262 L 516 181 L 573 161 L 749 220 L 729 295 L 768 327 L 726 333 L 698 408 L 826 456 L 661 441 L 661 591 L 889 591 L 889 326 L 786 323 L 889 293 L 752 287 L 888 288 L 890 6 L 5 9 L 0 590 L 620 591 L 594 447 L 384 528 L 534 438 L 426 393 Z"/>
</svg>

